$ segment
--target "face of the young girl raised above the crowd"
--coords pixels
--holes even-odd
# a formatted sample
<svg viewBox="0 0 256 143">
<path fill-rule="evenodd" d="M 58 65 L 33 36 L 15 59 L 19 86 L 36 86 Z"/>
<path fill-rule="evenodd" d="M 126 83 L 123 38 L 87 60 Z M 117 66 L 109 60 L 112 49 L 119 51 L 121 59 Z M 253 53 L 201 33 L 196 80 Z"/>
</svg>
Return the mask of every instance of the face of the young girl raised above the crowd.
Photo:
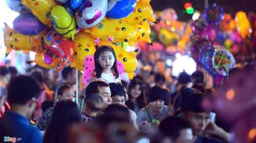
<svg viewBox="0 0 256 143">
<path fill-rule="evenodd" d="M 99 55 L 99 64 L 104 70 L 111 70 L 114 65 L 115 57 L 111 51 L 103 51 Z"/>
</svg>

